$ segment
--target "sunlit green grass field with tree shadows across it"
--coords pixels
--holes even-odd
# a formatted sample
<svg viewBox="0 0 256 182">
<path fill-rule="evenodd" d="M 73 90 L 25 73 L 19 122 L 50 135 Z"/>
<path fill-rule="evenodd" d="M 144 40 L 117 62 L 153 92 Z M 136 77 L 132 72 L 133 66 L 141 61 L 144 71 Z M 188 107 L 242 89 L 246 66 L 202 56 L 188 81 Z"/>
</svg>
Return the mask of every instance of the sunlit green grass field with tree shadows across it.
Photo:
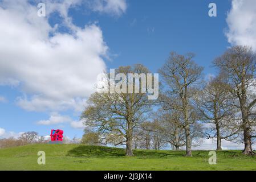
<svg viewBox="0 0 256 182">
<path fill-rule="evenodd" d="M 39 165 L 38 151 L 46 152 L 46 165 Z M 216 165 L 203 162 L 208 151 L 135 150 L 125 156 L 122 148 L 79 144 L 32 144 L 0 149 L 0 170 L 256 170 L 256 158 L 241 151 L 217 152 Z"/>
</svg>

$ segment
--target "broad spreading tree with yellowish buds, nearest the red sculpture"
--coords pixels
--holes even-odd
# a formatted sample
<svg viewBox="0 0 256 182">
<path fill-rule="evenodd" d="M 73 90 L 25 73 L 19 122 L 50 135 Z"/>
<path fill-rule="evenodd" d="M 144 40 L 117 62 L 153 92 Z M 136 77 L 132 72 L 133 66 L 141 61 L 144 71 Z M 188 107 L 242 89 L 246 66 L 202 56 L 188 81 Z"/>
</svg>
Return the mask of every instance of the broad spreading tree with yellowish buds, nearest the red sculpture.
<svg viewBox="0 0 256 182">
<path fill-rule="evenodd" d="M 149 71 L 143 65 L 136 64 L 133 67 L 119 67 L 115 73 L 118 74 L 117 80 L 105 78 L 107 88 L 111 89 L 112 82 L 115 82 L 116 89 L 123 91 L 134 89 L 133 92 L 125 93 L 116 90 L 114 93 L 104 91 L 92 94 L 82 118 L 86 118 L 87 126 L 95 127 L 99 133 L 107 136 L 106 142 L 114 142 L 115 145 L 125 144 L 126 155 L 132 156 L 133 130 L 144 121 L 153 102 L 153 100 L 148 100 L 147 93 L 141 91 L 145 86 L 141 79 L 143 79 L 143 74 Z M 140 77 L 140 82 L 136 82 L 133 78 L 131 81 L 130 74 Z M 135 91 L 138 83 L 140 92 Z"/>
</svg>

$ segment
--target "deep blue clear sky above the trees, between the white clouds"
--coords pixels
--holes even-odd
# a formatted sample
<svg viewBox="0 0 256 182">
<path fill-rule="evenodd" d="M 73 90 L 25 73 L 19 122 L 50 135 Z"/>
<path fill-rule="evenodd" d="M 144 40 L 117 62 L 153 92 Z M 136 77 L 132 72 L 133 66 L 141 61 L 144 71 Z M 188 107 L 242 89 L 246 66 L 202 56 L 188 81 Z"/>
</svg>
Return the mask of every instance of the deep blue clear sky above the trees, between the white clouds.
<svg viewBox="0 0 256 182">
<path fill-rule="evenodd" d="M 170 51 L 194 52 L 198 64 L 207 72 L 210 61 L 220 55 L 229 43 L 224 34 L 230 1 L 216 1 L 218 16 L 208 16 L 212 1 L 128 1 L 125 14 L 119 18 L 90 13 L 75 13 L 74 23 L 84 26 L 87 20 L 98 22 L 104 40 L 113 55 L 108 68 L 143 63 L 152 72 L 164 63 Z M 75 11 L 75 10 L 74 10 Z M 73 11 L 71 11 L 72 15 Z"/>
</svg>

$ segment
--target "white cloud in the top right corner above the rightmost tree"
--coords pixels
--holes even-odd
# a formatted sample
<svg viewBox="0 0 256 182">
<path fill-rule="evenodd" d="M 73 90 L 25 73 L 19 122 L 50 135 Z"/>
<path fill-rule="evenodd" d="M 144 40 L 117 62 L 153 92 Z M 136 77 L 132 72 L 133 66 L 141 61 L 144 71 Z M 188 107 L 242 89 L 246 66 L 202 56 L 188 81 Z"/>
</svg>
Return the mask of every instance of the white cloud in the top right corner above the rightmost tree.
<svg viewBox="0 0 256 182">
<path fill-rule="evenodd" d="M 232 0 L 232 7 L 227 14 L 226 32 L 229 43 L 247 45 L 256 51 L 256 1 Z"/>
</svg>

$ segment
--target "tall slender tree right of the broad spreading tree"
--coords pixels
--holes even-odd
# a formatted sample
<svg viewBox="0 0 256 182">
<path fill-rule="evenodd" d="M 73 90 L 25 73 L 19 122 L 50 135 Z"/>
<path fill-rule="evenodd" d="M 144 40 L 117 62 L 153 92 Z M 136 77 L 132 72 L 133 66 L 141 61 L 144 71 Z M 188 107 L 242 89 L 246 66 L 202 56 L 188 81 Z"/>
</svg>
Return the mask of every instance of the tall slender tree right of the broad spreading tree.
<svg viewBox="0 0 256 182">
<path fill-rule="evenodd" d="M 186 135 L 186 156 L 192 156 L 190 125 L 193 124 L 194 119 L 192 119 L 190 100 L 194 94 L 193 88 L 200 81 L 203 70 L 192 60 L 193 57 L 193 53 L 178 55 L 176 52 L 171 52 L 169 59 L 159 71 L 163 82 L 168 87 L 161 101 L 169 109 L 182 113 Z"/>
</svg>

